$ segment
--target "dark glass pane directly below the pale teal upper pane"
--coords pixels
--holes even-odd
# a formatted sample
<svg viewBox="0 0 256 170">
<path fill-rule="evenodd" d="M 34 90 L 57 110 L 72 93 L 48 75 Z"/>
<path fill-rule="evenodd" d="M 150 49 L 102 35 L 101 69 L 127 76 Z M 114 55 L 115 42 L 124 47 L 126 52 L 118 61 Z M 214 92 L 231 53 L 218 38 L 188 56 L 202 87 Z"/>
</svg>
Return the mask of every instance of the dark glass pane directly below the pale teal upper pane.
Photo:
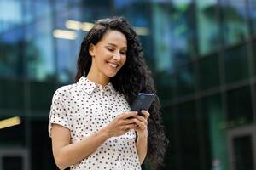
<svg viewBox="0 0 256 170">
<path fill-rule="evenodd" d="M 210 55 L 200 60 L 200 86 L 202 89 L 219 85 L 218 55 Z"/>
</svg>

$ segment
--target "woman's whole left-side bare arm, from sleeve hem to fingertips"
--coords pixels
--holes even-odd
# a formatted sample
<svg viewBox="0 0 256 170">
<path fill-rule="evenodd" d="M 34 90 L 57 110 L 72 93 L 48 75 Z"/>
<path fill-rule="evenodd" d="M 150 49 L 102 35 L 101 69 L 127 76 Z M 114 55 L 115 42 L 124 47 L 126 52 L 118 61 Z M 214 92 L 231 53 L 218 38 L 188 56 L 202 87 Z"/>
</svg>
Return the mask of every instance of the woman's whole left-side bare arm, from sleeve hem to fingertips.
<svg viewBox="0 0 256 170">
<path fill-rule="evenodd" d="M 90 156 L 108 138 L 120 136 L 135 127 L 134 119 L 127 117 L 135 116 L 137 112 L 127 112 L 113 119 L 106 127 L 102 127 L 96 133 L 71 144 L 70 131 L 66 127 L 53 124 L 51 129 L 52 149 L 55 163 L 60 169 L 65 169 L 87 156 Z"/>
</svg>

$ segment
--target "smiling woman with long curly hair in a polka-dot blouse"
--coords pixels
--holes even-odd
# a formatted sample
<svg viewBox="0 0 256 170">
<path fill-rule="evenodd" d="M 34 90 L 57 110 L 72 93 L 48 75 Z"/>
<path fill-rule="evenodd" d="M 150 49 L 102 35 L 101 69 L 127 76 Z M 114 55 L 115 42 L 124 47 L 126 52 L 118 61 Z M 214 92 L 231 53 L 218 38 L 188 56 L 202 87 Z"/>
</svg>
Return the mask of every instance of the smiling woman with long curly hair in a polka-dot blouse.
<svg viewBox="0 0 256 170">
<path fill-rule="evenodd" d="M 81 44 L 76 83 L 56 90 L 49 136 L 60 169 L 160 167 L 167 139 L 154 99 L 144 116 L 130 111 L 137 94 L 153 93 L 136 32 L 123 18 L 98 20 Z"/>
</svg>

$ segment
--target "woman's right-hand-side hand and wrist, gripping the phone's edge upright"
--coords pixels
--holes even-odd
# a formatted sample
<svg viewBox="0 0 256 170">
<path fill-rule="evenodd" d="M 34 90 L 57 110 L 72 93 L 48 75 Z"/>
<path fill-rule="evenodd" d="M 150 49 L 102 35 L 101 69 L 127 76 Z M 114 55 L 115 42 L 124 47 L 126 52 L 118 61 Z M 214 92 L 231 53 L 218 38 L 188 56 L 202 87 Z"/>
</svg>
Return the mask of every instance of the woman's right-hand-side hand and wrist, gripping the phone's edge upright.
<svg viewBox="0 0 256 170">
<path fill-rule="evenodd" d="M 144 116 L 134 116 L 134 118 L 137 119 L 137 127 L 134 127 L 137 137 L 148 137 L 148 117 L 150 114 L 148 111 L 143 110 L 142 111 Z"/>
</svg>

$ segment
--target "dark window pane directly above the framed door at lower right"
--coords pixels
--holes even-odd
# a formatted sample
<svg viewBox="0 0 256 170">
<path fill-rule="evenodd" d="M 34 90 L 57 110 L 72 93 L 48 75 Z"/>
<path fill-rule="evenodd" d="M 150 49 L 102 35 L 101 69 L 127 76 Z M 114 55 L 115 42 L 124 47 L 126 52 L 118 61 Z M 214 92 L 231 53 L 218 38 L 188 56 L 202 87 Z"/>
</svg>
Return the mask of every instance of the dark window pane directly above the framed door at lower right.
<svg viewBox="0 0 256 170">
<path fill-rule="evenodd" d="M 253 122 L 252 96 L 249 87 L 228 92 L 227 111 L 227 121 L 231 127 Z"/>
</svg>

